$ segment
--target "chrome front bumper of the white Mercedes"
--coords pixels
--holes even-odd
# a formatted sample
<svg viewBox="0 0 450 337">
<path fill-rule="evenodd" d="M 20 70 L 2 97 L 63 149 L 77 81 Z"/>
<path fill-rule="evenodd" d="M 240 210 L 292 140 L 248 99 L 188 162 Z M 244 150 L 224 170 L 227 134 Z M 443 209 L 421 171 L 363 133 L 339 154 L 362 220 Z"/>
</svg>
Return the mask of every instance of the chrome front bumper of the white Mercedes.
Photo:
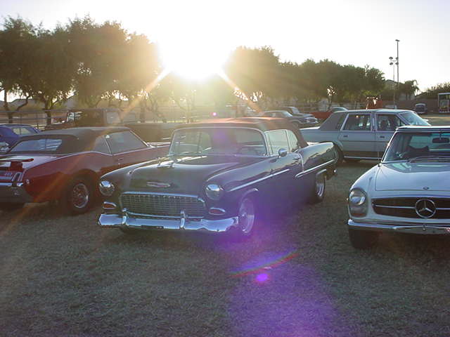
<svg viewBox="0 0 450 337">
<path fill-rule="evenodd" d="M 349 228 L 355 230 L 387 231 L 411 234 L 450 234 L 450 223 L 448 225 L 416 225 L 416 224 L 385 224 L 385 223 L 356 223 L 350 219 Z"/>
</svg>

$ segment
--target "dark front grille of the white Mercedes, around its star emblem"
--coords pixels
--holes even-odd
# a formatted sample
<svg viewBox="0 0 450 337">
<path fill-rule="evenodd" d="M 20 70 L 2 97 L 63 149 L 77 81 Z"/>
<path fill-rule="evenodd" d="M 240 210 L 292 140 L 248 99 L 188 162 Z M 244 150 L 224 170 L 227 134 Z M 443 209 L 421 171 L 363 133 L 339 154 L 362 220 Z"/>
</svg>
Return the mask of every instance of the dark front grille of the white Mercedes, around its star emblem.
<svg viewBox="0 0 450 337">
<path fill-rule="evenodd" d="M 450 198 L 409 197 L 409 198 L 380 198 L 373 199 L 373 211 L 383 216 L 399 216 L 403 218 L 421 218 L 416 213 L 416 202 L 429 199 L 435 203 L 436 213 L 433 219 L 450 219 Z"/>
</svg>

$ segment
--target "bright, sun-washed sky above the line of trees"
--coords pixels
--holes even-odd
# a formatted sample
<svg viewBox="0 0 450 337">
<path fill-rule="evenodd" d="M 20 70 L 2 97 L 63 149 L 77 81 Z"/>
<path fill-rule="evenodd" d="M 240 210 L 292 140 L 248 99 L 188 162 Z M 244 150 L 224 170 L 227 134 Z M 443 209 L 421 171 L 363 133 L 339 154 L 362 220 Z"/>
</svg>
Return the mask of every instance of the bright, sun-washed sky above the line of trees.
<svg viewBox="0 0 450 337">
<path fill-rule="evenodd" d="M 195 51 L 219 62 L 236 46 L 267 45 L 281 60 L 368 64 L 392 79 L 388 58 L 397 55 L 399 39 L 400 81 L 416 79 L 420 89 L 450 81 L 448 0 L 2 0 L 0 5 L 2 17 L 20 15 L 49 28 L 88 13 L 97 22 L 116 20 L 158 41 L 172 64 L 183 55 L 194 55 L 187 60 L 195 62 Z"/>
</svg>

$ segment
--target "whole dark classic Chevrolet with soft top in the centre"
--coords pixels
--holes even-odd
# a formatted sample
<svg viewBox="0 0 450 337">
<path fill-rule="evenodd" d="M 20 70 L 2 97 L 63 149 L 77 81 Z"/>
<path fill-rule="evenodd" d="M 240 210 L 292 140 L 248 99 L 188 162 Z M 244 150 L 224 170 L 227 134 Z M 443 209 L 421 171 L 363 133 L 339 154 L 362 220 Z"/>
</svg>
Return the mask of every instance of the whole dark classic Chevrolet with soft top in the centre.
<svg viewBox="0 0 450 337">
<path fill-rule="evenodd" d="M 263 211 L 319 202 L 333 144 L 307 145 L 284 119 L 212 119 L 174 132 L 166 158 L 101 177 L 101 227 L 229 232 L 249 237 Z"/>
</svg>

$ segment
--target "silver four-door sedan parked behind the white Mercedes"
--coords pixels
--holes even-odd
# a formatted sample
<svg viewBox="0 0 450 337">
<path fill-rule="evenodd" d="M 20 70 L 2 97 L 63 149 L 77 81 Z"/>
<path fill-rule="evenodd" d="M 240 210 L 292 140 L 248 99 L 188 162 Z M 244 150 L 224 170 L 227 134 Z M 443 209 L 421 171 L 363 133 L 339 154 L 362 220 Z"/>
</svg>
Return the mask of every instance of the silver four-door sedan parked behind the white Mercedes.
<svg viewBox="0 0 450 337">
<path fill-rule="evenodd" d="M 339 162 L 378 160 L 399 126 L 430 126 L 409 110 L 347 110 L 333 113 L 321 126 L 303 128 L 307 142 L 332 142 Z"/>
</svg>

